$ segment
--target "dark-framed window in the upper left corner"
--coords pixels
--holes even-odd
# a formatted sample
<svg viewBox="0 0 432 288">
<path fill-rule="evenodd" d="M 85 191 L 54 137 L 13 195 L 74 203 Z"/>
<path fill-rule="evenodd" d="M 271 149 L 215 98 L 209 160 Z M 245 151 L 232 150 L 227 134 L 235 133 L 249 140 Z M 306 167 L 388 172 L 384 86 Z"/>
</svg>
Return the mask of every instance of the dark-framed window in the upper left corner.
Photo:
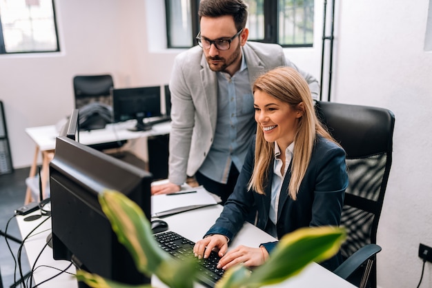
<svg viewBox="0 0 432 288">
<path fill-rule="evenodd" d="M 53 0 L 0 0 L 0 54 L 57 51 Z"/>
</svg>

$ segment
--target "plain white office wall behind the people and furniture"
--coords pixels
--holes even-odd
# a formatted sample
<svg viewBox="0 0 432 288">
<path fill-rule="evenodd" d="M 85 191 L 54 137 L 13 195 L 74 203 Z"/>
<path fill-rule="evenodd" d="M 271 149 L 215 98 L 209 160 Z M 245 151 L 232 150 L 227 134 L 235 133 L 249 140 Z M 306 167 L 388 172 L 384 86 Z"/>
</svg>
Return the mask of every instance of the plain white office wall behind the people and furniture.
<svg viewBox="0 0 432 288">
<path fill-rule="evenodd" d="M 418 245 L 432 246 L 432 53 L 423 50 L 428 0 L 336 2 L 332 100 L 386 107 L 396 118 L 377 239 L 383 248 L 378 285 L 415 287 L 422 268 Z M 117 87 L 168 83 L 178 51 L 163 49 L 161 3 L 57 0 L 61 53 L 0 55 L 0 99 L 14 167 L 32 161 L 35 147 L 26 127 L 70 113 L 75 74 L 108 72 Z M 315 47 L 286 53 L 320 79 L 323 0 L 315 3 Z M 427 264 L 422 287 L 432 287 L 431 275 Z"/>
</svg>

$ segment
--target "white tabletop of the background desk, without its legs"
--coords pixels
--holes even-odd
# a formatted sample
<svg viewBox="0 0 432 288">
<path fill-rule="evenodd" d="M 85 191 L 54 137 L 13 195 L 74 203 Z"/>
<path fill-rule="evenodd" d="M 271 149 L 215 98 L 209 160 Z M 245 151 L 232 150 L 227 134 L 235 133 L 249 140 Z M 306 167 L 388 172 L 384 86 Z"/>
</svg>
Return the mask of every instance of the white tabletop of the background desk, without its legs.
<svg viewBox="0 0 432 288">
<path fill-rule="evenodd" d="M 122 123 L 107 124 L 104 129 L 80 131 L 79 142 L 85 145 L 109 143 L 114 141 L 130 140 L 140 137 L 168 134 L 170 132 L 170 122 L 153 125 L 151 130 L 133 132 L 128 128 L 135 127 L 136 121 L 126 121 Z M 59 136 L 59 131 L 55 125 L 28 127 L 26 133 L 41 151 L 55 150 L 55 138 Z"/>
</svg>

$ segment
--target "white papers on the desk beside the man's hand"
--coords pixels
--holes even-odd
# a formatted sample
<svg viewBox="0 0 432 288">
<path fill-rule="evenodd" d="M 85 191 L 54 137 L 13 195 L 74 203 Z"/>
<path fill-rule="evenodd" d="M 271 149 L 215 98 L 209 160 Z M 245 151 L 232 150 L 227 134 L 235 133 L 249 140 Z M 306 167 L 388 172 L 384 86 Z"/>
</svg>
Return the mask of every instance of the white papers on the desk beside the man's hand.
<svg viewBox="0 0 432 288">
<path fill-rule="evenodd" d="M 215 198 L 202 186 L 190 189 L 181 189 L 179 193 L 188 191 L 196 191 L 196 193 L 178 195 L 161 194 L 151 196 L 152 217 L 167 216 L 199 207 L 217 204 Z"/>
</svg>

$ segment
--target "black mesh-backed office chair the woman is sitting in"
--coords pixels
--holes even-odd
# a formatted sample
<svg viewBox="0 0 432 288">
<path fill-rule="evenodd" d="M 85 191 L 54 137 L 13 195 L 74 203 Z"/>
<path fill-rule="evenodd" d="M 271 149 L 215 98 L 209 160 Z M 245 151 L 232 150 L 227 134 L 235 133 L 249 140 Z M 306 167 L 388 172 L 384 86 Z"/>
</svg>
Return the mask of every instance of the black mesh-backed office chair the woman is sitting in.
<svg viewBox="0 0 432 288">
<path fill-rule="evenodd" d="M 346 152 L 349 184 L 342 211 L 346 259 L 335 274 L 358 287 L 376 287 L 378 220 L 392 161 L 395 116 L 390 110 L 362 105 L 317 102 L 328 132 Z M 370 275 L 369 275 L 370 274 Z"/>
</svg>

